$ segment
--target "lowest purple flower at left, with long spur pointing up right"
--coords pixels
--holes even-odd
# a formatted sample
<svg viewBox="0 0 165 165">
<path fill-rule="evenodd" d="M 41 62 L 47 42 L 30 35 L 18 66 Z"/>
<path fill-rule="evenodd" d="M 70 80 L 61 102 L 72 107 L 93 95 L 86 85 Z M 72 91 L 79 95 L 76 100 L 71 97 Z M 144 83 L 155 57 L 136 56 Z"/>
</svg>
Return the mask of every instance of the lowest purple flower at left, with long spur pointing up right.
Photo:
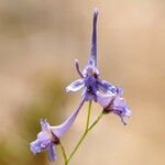
<svg viewBox="0 0 165 165">
<path fill-rule="evenodd" d="M 37 134 L 37 139 L 30 144 L 31 151 L 34 154 L 36 154 L 46 150 L 48 151 L 50 160 L 55 161 L 57 157 L 55 146 L 59 144 L 59 139 L 65 134 L 65 132 L 70 128 L 70 125 L 75 121 L 84 102 L 85 100 L 80 102 L 78 108 L 61 125 L 51 127 L 46 120 L 41 120 L 42 131 Z"/>
</svg>

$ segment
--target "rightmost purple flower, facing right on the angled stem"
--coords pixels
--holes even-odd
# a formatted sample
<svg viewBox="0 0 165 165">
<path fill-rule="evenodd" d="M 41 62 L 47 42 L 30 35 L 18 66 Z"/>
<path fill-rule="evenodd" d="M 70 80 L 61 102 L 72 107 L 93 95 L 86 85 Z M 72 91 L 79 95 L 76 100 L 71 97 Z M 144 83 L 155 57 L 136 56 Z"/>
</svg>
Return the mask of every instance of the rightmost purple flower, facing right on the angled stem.
<svg viewBox="0 0 165 165">
<path fill-rule="evenodd" d="M 121 97 L 122 91 L 112 95 L 98 94 L 98 102 L 103 108 L 105 113 L 113 112 L 120 117 L 122 123 L 127 124 L 127 119 L 131 117 L 131 110 L 127 106 L 127 101 Z"/>
</svg>

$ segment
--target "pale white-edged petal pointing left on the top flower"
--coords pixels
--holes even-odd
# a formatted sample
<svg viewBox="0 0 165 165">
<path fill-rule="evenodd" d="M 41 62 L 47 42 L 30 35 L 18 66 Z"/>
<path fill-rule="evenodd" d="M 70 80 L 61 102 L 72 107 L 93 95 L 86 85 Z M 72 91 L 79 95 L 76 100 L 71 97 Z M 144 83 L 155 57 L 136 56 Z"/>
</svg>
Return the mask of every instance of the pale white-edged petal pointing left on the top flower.
<svg viewBox="0 0 165 165">
<path fill-rule="evenodd" d="M 77 79 L 66 87 L 66 91 L 77 91 L 84 87 L 84 79 Z"/>
</svg>

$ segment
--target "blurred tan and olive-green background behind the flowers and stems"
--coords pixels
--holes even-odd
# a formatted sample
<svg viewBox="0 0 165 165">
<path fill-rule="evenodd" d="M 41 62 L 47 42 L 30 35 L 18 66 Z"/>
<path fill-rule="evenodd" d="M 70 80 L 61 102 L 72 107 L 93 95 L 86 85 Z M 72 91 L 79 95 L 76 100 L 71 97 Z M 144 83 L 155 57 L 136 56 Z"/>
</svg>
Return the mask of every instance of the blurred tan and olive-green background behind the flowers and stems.
<svg viewBox="0 0 165 165">
<path fill-rule="evenodd" d="M 133 110 L 128 127 L 109 114 L 90 132 L 72 165 L 164 165 L 165 1 L 0 0 L 0 165 L 48 165 L 29 143 L 40 119 L 62 123 L 80 92 L 65 87 L 78 77 L 74 59 L 87 63 L 94 8 L 99 8 L 101 77 L 124 89 Z M 78 140 L 87 107 L 63 139 Z M 94 118 L 100 107 L 94 105 Z M 63 164 L 58 152 L 56 164 Z"/>
</svg>

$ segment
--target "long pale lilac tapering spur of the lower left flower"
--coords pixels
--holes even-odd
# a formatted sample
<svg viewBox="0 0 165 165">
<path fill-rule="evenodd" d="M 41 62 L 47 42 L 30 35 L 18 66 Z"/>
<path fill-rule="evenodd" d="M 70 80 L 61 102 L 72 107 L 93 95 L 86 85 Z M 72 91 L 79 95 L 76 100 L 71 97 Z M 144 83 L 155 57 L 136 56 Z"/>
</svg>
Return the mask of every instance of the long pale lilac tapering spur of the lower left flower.
<svg viewBox="0 0 165 165">
<path fill-rule="evenodd" d="M 70 128 L 84 103 L 85 99 L 81 100 L 78 108 L 70 114 L 70 117 L 64 123 L 57 127 L 51 127 L 51 131 L 55 136 L 59 139 Z"/>
</svg>

